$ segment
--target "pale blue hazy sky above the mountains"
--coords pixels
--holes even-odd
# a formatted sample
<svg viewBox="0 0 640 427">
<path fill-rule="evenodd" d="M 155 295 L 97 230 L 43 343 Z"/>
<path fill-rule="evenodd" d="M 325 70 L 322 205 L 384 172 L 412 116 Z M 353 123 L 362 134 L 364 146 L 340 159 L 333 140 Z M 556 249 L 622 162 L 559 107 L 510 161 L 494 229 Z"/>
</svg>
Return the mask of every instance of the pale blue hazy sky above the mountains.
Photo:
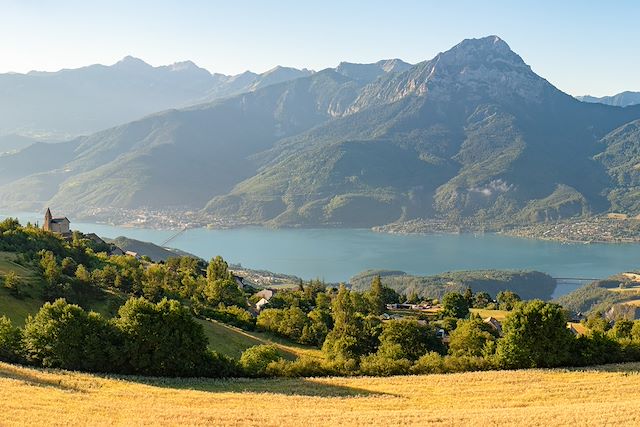
<svg viewBox="0 0 640 427">
<path fill-rule="evenodd" d="M 573 94 L 640 91 L 640 1 L 0 0 L 0 72 L 190 59 L 212 72 L 419 62 L 496 34 Z"/>
</svg>

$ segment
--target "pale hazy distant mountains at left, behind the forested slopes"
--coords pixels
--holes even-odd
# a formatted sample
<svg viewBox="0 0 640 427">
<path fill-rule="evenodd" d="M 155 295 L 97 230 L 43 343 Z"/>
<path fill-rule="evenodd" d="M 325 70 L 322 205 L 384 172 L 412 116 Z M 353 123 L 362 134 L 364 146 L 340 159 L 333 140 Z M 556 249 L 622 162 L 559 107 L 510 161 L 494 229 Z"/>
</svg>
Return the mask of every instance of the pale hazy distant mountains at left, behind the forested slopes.
<svg viewBox="0 0 640 427">
<path fill-rule="evenodd" d="M 128 56 L 112 66 L 0 74 L 0 135 L 88 134 L 310 73 L 278 67 L 263 74 L 225 76 L 191 61 L 152 67 Z"/>
</svg>

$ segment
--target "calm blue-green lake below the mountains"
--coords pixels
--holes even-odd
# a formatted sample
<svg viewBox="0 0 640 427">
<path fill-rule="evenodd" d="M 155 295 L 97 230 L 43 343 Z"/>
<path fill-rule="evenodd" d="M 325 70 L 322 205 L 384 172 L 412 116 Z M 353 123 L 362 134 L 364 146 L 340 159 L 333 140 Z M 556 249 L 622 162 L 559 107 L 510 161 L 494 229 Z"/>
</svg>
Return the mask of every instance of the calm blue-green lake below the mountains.
<svg viewBox="0 0 640 427">
<path fill-rule="evenodd" d="M 41 214 L 18 213 L 22 223 Z M 72 229 L 103 237 L 127 236 L 160 244 L 176 232 L 104 224 L 71 223 Z M 553 277 L 605 278 L 640 268 L 640 244 L 565 244 L 495 234 L 393 235 L 363 229 L 191 229 L 168 246 L 202 258 L 222 255 L 244 267 L 304 279 L 347 281 L 368 269 L 430 275 L 475 269 L 539 270 Z M 580 283 L 562 282 L 554 296 Z"/>
</svg>

